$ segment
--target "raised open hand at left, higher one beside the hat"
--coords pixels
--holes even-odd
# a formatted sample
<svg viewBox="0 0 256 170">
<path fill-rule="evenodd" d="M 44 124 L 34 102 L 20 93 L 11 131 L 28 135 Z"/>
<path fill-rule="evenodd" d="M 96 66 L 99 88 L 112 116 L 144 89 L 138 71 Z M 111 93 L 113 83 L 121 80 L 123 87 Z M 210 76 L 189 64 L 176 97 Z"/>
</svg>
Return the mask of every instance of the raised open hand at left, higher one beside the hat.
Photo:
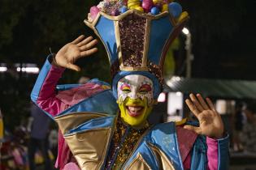
<svg viewBox="0 0 256 170">
<path fill-rule="evenodd" d="M 85 38 L 85 36 L 79 36 L 76 40 L 64 45 L 62 49 L 56 54 L 53 64 L 61 66 L 71 70 L 80 71 L 80 67 L 75 65 L 75 62 L 80 57 L 89 56 L 98 51 L 97 48 L 93 48 L 97 44 L 97 40 L 93 40 L 93 36 Z"/>
</svg>

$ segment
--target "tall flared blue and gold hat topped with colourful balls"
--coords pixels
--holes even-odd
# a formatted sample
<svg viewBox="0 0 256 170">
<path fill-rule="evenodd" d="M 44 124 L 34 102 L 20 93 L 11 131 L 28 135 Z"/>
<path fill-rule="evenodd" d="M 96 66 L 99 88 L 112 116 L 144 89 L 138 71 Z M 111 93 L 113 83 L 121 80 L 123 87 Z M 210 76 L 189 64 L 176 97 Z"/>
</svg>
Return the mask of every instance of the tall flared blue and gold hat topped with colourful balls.
<svg viewBox="0 0 256 170">
<path fill-rule="evenodd" d="M 115 97 L 119 79 L 141 74 L 153 81 L 157 99 L 167 50 L 188 19 L 180 4 L 167 0 L 105 0 L 91 8 L 85 24 L 106 48 Z"/>
</svg>

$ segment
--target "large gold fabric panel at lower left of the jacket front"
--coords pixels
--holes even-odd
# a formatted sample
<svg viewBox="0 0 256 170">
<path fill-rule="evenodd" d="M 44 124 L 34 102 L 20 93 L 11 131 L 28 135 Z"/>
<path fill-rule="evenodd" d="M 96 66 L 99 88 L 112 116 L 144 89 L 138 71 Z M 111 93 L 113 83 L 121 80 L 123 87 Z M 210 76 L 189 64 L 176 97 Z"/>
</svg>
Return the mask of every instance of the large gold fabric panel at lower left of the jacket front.
<svg viewBox="0 0 256 170">
<path fill-rule="evenodd" d="M 110 143 L 111 128 L 86 130 L 64 138 L 82 170 L 102 168 Z"/>
</svg>

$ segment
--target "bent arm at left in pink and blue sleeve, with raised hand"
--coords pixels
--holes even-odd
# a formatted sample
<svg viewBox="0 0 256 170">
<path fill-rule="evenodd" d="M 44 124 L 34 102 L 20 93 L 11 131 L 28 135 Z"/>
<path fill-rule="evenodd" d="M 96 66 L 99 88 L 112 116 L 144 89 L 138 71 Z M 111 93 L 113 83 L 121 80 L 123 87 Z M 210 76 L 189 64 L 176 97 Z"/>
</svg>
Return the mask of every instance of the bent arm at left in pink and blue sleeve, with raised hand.
<svg viewBox="0 0 256 170">
<path fill-rule="evenodd" d="M 96 43 L 97 40 L 93 40 L 92 36 L 86 39 L 85 36 L 79 36 L 76 40 L 64 45 L 55 57 L 50 55 L 33 87 L 31 94 L 33 102 L 46 111 L 46 113 L 50 113 L 52 117 L 69 107 L 56 98 L 56 85 L 65 68 L 76 71 L 80 70 L 80 67 L 74 63 L 80 57 L 86 57 L 95 53 L 97 48 L 93 48 L 93 46 Z"/>
</svg>

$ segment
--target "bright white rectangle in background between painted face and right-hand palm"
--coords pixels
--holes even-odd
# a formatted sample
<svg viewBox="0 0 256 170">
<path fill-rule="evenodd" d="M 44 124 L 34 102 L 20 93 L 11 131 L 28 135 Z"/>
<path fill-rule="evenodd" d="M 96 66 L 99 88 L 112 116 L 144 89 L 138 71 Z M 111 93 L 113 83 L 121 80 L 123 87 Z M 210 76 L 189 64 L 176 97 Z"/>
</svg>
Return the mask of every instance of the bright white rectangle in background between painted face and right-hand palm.
<svg viewBox="0 0 256 170">
<path fill-rule="evenodd" d="M 167 101 L 167 121 L 180 121 L 183 117 L 183 94 L 169 92 Z"/>
</svg>

